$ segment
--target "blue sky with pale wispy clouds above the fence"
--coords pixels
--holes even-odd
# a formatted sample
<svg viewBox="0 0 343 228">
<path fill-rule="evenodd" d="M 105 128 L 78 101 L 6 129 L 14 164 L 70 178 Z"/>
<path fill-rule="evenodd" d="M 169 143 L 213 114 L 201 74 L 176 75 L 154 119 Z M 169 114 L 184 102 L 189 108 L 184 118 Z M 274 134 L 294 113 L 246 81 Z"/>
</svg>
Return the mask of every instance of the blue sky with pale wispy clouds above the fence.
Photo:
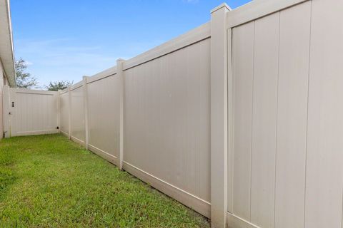
<svg viewBox="0 0 343 228">
<path fill-rule="evenodd" d="M 11 0 L 14 52 L 42 88 L 81 80 L 210 19 L 223 0 Z M 249 0 L 227 0 L 233 9 Z"/>
</svg>

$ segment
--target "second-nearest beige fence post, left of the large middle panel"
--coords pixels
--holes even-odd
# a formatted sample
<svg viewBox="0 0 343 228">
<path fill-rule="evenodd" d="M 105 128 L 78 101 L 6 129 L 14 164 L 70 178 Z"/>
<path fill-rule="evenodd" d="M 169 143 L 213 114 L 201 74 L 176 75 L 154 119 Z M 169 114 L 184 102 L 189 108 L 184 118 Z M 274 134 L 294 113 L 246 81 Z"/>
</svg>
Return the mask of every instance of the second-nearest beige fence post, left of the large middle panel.
<svg viewBox="0 0 343 228">
<path fill-rule="evenodd" d="M 123 169 L 124 160 L 124 60 L 119 58 L 116 61 L 116 75 L 119 77 L 120 83 L 120 130 L 119 130 L 119 169 Z"/>
</svg>

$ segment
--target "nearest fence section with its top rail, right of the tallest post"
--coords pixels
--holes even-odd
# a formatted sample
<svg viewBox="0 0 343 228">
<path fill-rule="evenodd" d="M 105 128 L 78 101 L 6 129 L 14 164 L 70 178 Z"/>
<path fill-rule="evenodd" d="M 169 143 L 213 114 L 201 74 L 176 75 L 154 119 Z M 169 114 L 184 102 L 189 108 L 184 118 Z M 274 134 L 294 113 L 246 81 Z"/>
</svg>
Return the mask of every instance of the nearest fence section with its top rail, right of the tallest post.
<svg viewBox="0 0 343 228">
<path fill-rule="evenodd" d="M 254 1 L 227 14 L 234 27 L 229 226 L 342 227 L 342 6 Z"/>
</svg>

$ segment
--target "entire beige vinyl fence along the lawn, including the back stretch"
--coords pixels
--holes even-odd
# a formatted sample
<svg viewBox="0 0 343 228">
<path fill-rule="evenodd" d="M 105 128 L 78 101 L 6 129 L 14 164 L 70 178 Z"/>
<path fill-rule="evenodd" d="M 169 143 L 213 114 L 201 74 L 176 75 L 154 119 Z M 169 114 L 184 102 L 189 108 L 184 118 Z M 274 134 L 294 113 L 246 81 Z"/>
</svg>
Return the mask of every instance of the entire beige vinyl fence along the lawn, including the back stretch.
<svg viewBox="0 0 343 228">
<path fill-rule="evenodd" d="M 213 227 L 342 228 L 342 9 L 223 4 L 209 23 L 51 100 L 11 89 L 5 122 L 11 135 L 59 126 Z M 36 126 L 30 105 L 59 112 Z"/>
</svg>

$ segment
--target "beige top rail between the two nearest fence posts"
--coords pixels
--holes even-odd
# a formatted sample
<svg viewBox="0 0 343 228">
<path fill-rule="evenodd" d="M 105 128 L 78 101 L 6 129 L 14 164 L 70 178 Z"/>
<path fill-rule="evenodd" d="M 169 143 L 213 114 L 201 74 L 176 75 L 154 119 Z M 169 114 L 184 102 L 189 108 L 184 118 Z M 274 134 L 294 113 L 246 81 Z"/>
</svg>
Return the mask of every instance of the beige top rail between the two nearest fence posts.
<svg viewBox="0 0 343 228">
<path fill-rule="evenodd" d="M 192 31 L 189 31 L 181 36 L 178 36 L 177 38 L 172 39 L 171 41 L 167 41 L 160 46 L 156 46 L 149 51 L 141 53 L 139 56 L 130 58 L 129 60 L 124 62 L 123 70 L 126 71 L 129 68 L 133 68 L 135 66 L 141 65 L 142 63 L 146 63 L 161 56 L 165 56 L 166 54 L 172 53 L 181 48 L 185 48 L 189 45 L 192 45 L 193 43 L 197 43 L 206 38 L 209 38 L 210 36 L 211 25 L 209 22 L 207 22 L 202 26 L 194 28 Z"/>
</svg>

